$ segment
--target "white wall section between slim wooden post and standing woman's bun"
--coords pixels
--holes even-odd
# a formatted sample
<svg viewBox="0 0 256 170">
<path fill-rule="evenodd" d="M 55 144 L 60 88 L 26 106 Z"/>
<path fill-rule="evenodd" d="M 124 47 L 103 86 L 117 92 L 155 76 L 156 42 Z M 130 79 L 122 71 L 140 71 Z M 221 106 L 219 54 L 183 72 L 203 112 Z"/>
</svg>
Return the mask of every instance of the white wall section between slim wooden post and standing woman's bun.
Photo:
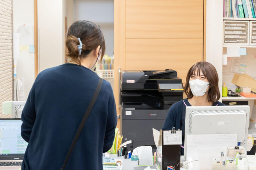
<svg viewBox="0 0 256 170">
<path fill-rule="evenodd" d="M 66 0 L 38 0 L 39 72 L 64 63 Z"/>
</svg>

